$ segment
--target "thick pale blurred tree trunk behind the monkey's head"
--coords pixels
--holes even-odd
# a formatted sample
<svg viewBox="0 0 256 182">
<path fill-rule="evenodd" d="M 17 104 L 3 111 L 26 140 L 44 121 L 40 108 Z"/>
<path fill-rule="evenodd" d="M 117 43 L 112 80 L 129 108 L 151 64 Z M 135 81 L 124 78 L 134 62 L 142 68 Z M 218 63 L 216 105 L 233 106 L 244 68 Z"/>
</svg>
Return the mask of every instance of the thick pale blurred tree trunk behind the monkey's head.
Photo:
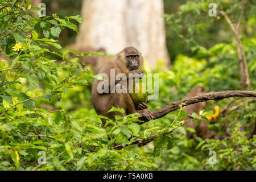
<svg viewBox="0 0 256 182">
<path fill-rule="evenodd" d="M 81 14 L 84 22 L 80 24 L 78 45 L 104 47 L 108 53 L 133 46 L 151 68 L 157 60 L 170 63 L 162 0 L 84 0 Z"/>
</svg>

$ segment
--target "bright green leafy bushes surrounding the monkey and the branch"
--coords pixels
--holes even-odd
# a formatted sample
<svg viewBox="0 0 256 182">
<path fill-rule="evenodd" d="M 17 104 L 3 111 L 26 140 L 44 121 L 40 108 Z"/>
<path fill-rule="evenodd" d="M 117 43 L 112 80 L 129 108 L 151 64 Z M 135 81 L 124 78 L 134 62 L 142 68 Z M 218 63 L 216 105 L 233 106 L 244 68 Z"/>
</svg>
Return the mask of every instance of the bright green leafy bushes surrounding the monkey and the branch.
<svg viewBox="0 0 256 182">
<path fill-rule="evenodd" d="M 180 170 L 249 169 L 255 170 L 255 136 L 246 139 L 255 121 L 255 104 L 218 117 L 210 125 L 217 135 L 232 132 L 224 140 L 187 139 L 180 126 L 187 113 L 173 111 L 166 117 L 138 125 L 138 114 L 123 115 L 114 122 L 98 116 L 90 102 L 92 71 L 78 58 L 90 53 L 65 50 L 59 43 L 62 32 L 77 32 L 71 20 L 81 17 L 58 15 L 33 17 L 30 1 L 0 1 L 0 46 L 6 57 L 0 61 L 0 169 L 2 170 Z M 255 77 L 255 38 L 243 39 L 251 77 Z M 193 57 L 179 54 L 171 69 L 159 74 L 159 98 L 150 101 L 150 110 L 180 100 L 200 84 L 210 91 L 237 89 L 239 71 L 234 42 L 196 47 Z M 96 53 L 102 55 L 102 53 Z M 54 58 L 52 58 L 54 57 Z M 57 57 L 57 59 L 56 59 Z M 255 80 L 251 80 L 255 90 Z M 209 102 L 196 119 L 210 115 L 214 105 L 224 107 L 230 99 Z M 239 103 L 241 100 L 238 100 Z M 100 118 L 107 119 L 101 127 Z M 238 129 L 246 125 L 246 132 Z M 226 127 L 228 125 L 228 127 Z M 138 138 L 154 137 L 144 147 L 130 145 Z M 122 150 L 114 150 L 121 145 Z M 130 145 L 130 146 L 129 146 Z M 154 145 L 154 146 L 153 146 Z M 209 150 L 216 151 L 217 165 L 209 165 Z M 46 164 L 40 151 L 45 152 Z"/>
</svg>

